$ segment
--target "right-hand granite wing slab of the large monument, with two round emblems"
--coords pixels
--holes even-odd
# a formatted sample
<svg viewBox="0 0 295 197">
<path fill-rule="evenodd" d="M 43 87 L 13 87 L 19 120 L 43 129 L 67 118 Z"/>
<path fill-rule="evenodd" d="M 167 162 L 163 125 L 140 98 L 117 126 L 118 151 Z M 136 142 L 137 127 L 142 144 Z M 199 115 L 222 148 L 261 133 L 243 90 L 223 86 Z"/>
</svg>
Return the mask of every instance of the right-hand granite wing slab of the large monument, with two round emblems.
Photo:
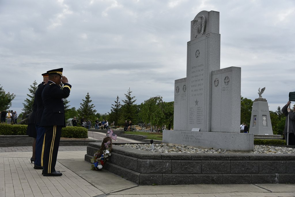
<svg viewBox="0 0 295 197">
<path fill-rule="evenodd" d="M 212 71 L 211 131 L 240 132 L 241 68 Z"/>
</svg>

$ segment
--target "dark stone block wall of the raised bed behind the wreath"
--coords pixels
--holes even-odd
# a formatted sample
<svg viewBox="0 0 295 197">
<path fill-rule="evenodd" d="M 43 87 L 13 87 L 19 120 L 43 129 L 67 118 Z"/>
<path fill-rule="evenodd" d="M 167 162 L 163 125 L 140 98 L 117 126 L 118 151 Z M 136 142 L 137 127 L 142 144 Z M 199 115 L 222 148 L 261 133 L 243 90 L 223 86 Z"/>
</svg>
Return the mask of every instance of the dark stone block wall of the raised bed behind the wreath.
<svg viewBox="0 0 295 197">
<path fill-rule="evenodd" d="M 99 148 L 89 143 L 85 160 Z M 295 154 L 153 153 L 113 145 L 104 168 L 139 185 L 295 183 Z"/>
</svg>

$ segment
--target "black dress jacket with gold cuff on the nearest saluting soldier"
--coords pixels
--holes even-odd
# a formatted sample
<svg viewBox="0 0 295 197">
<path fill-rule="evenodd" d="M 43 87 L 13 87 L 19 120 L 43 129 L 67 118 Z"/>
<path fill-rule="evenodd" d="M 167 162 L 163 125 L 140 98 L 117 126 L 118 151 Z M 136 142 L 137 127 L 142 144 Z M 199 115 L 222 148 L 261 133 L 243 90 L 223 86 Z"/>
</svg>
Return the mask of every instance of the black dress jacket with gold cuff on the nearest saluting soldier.
<svg viewBox="0 0 295 197">
<path fill-rule="evenodd" d="M 65 127 L 65 108 L 63 98 L 70 95 L 71 85 L 65 83 L 63 89 L 60 85 L 48 81 L 42 91 L 44 111 L 40 126 L 57 125 Z"/>
</svg>

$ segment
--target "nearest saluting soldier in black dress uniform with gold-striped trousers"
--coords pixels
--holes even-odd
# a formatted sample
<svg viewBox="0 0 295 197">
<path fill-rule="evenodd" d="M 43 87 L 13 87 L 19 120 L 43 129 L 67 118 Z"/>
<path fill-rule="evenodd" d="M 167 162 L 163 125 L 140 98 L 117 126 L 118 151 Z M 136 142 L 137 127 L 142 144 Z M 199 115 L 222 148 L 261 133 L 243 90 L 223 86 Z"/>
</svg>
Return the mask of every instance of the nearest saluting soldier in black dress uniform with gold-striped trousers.
<svg viewBox="0 0 295 197">
<path fill-rule="evenodd" d="M 63 98 L 70 95 L 71 85 L 63 74 L 63 68 L 47 71 L 49 81 L 42 91 L 44 111 L 40 126 L 45 127 L 45 150 L 43 157 L 43 176 L 61 176 L 55 170 L 60 142 L 61 128 L 65 127 Z M 61 89 L 60 83 L 63 83 Z"/>
</svg>

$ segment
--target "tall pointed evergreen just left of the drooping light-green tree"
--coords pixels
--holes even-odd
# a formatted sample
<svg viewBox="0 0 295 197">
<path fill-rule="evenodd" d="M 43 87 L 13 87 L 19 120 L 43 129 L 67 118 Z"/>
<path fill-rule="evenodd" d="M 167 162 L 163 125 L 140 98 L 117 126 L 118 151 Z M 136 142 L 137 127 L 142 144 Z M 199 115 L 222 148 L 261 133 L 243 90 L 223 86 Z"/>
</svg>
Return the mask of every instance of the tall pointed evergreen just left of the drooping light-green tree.
<svg viewBox="0 0 295 197">
<path fill-rule="evenodd" d="M 132 122 L 135 122 L 136 119 L 136 105 L 134 104 L 136 99 L 135 96 L 131 96 L 132 91 L 129 90 L 127 91 L 127 94 L 124 94 L 126 99 L 122 100 L 122 102 L 124 103 L 121 107 L 122 109 L 122 114 L 121 114 L 121 118 L 119 120 L 120 124 L 124 124 L 124 120 L 131 120 Z"/>
</svg>

